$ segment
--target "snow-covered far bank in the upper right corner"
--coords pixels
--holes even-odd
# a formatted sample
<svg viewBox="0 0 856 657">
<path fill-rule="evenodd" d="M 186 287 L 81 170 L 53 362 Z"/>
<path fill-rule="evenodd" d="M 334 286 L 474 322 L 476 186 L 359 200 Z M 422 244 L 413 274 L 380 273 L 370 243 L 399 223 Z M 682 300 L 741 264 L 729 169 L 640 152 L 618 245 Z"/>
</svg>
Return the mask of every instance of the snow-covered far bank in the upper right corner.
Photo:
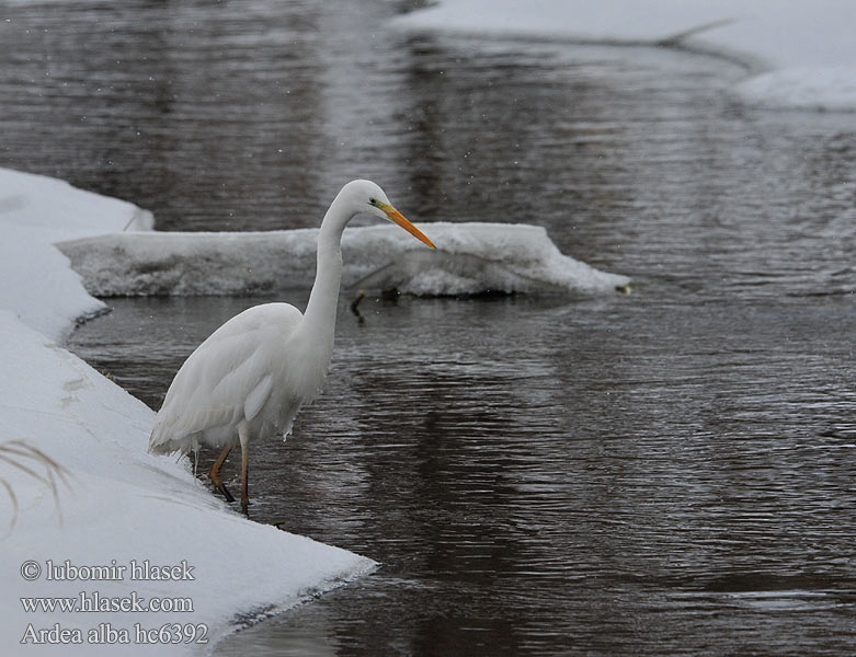
<svg viewBox="0 0 856 657">
<path fill-rule="evenodd" d="M 441 0 L 397 19 L 443 30 L 624 44 L 680 44 L 749 65 L 734 92 L 778 108 L 856 111 L 852 0 Z"/>
</svg>

